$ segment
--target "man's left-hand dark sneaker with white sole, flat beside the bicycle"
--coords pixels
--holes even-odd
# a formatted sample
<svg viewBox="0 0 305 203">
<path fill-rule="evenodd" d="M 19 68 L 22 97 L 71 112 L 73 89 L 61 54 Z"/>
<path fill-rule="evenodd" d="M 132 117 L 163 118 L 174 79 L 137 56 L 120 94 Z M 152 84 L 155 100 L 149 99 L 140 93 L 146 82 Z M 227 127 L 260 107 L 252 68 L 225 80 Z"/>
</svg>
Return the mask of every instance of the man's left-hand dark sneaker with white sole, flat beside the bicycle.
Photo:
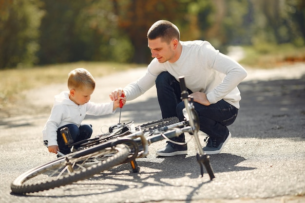
<svg viewBox="0 0 305 203">
<path fill-rule="evenodd" d="M 163 149 L 160 149 L 156 152 L 158 156 L 174 156 L 174 155 L 182 155 L 188 154 L 188 146 L 185 145 L 177 145 L 172 142 L 167 142 L 167 146 Z"/>
</svg>

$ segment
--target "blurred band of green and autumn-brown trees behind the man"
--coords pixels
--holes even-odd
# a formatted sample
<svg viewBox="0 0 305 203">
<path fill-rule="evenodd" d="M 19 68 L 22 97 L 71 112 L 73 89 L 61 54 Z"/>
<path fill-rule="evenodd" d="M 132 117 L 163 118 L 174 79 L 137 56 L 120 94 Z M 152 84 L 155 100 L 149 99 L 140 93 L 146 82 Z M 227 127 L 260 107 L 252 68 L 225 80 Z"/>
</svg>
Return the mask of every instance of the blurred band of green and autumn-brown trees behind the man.
<svg viewBox="0 0 305 203">
<path fill-rule="evenodd" d="M 305 44 L 304 0 L 0 0 L 0 69 L 148 63 L 146 33 L 159 19 L 175 23 L 181 40 L 208 40 L 222 52 L 236 44 L 258 53 Z"/>
</svg>

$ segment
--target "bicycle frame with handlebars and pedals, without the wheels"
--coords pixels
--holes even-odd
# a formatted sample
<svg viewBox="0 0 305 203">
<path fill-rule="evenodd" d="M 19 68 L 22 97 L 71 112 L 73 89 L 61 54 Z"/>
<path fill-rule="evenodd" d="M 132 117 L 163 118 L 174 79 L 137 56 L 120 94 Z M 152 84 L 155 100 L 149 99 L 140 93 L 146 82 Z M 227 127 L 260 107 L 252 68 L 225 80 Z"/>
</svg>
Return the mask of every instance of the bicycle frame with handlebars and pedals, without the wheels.
<svg viewBox="0 0 305 203">
<path fill-rule="evenodd" d="M 201 176 L 203 176 L 204 173 L 203 166 L 205 166 L 207 172 L 209 173 L 210 180 L 215 178 L 213 170 L 210 166 L 210 156 L 203 151 L 202 146 L 200 144 L 199 136 L 197 133 L 199 131 L 199 118 L 196 111 L 194 110 L 193 99 L 187 92 L 184 76 L 180 77 L 179 81 L 181 88 L 181 98 L 184 102 L 185 110 L 186 110 L 186 113 L 184 113 L 185 116 L 184 121 L 152 130 L 152 132 L 144 132 L 139 128 L 138 131 L 133 132 L 132 134 L 128 134 L 123 137 L 118 137 L 119 135 L 117 135 L 117 137 L 114 138 L 112 137 L 113 135 L 123 130 L 123 128 L 126 128 L 125 124 L 119 124 L 119 126 L 116 129 L 115 128 L 112 129 L 111 130 L 112 132 L 106 135 L 106 137 L 109 136 L 110 139 L 108 141 L 105 141 L 104 143 L 96 145 L 95 149 L 113 147 L 118 144 L 129 144 L 129 146 L 132 147 L 134 151 L 133 153 L 130 154 L 130 156 L 125 161 L 125 163 L 131 162 L 133 167 L 133 172 L 138 172 L 138 167 L 136 165 L 135 159 L 140 157 L 146 157 L 148 155 L 149 152 L 148 148 L 151 143 L 163 139 L 170 139 L 175 136 L 179 136 L 184 132 L 188 132 L 194 136 L 197 144 L 199 153 L 196 154 L 196 158 L 200 166 Z M 67 141 L 67 144 L 71 145 L 71 141 L 69 141 L 70 139 L 69 132 L 67 132 L 66 129 L 62 130 L 62 135 L 64 137 L 64 140 Z M 100 137 L 99 139 L 103 139 L 103 137 Z M 73 143 L 73 145 L 85 143 L 87 141 L 92 141 L 94 143 L 95 141 L 101 141 L 101 140 L 98 140 L 97 138 L 93 138 L 93 139 L 88 139 L 77 143 Z M 139 151 L 138 148 L 139 146 L 143 146 L 143 150 Z"/>
</svg>

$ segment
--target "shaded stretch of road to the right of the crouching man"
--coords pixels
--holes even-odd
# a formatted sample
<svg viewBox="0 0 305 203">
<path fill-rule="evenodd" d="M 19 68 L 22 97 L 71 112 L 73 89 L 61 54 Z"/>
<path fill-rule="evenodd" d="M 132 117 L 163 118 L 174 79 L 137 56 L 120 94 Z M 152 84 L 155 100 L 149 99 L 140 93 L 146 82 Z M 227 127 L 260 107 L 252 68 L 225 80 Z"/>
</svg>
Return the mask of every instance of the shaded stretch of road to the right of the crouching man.
<svg viewBox="0 0 305 203">
<path fill-rule="evenodd" d="M 305 77 L 242 82 L 234 137 L 305 139 Z"/>
</svg>

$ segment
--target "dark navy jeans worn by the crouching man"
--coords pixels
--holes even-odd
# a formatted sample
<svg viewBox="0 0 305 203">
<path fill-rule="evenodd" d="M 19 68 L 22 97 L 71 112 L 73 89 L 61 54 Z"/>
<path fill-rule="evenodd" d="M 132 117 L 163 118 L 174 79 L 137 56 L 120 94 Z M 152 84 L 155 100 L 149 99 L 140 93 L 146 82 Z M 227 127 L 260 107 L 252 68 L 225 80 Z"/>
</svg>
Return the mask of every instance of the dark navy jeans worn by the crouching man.
<svg viewBox="0 0 305 203">
<path fill-rule="evenodd" d="M 155 83 L 162 117 L 177 116 L 182 121 L 184 119 L 182 113 L 184 102 L 180 98 L 179 81 L 168 72 L 163 72 L 158 75 Z M 188 90 L 188 92 L 190 94 L 192 93 L 191 90 Z M 227 126 L 235 121 L 238 109 L 223 99 L 210 106 L 204 106 L 194 102 L 194 107 L 199 116 L 200 130 L 210 135 L 210 137 L 217 137 L 224 140 L 229 134 Z M 184 134 L 181 134 L 173 140 L 184 142 Z"/>
</svg>

